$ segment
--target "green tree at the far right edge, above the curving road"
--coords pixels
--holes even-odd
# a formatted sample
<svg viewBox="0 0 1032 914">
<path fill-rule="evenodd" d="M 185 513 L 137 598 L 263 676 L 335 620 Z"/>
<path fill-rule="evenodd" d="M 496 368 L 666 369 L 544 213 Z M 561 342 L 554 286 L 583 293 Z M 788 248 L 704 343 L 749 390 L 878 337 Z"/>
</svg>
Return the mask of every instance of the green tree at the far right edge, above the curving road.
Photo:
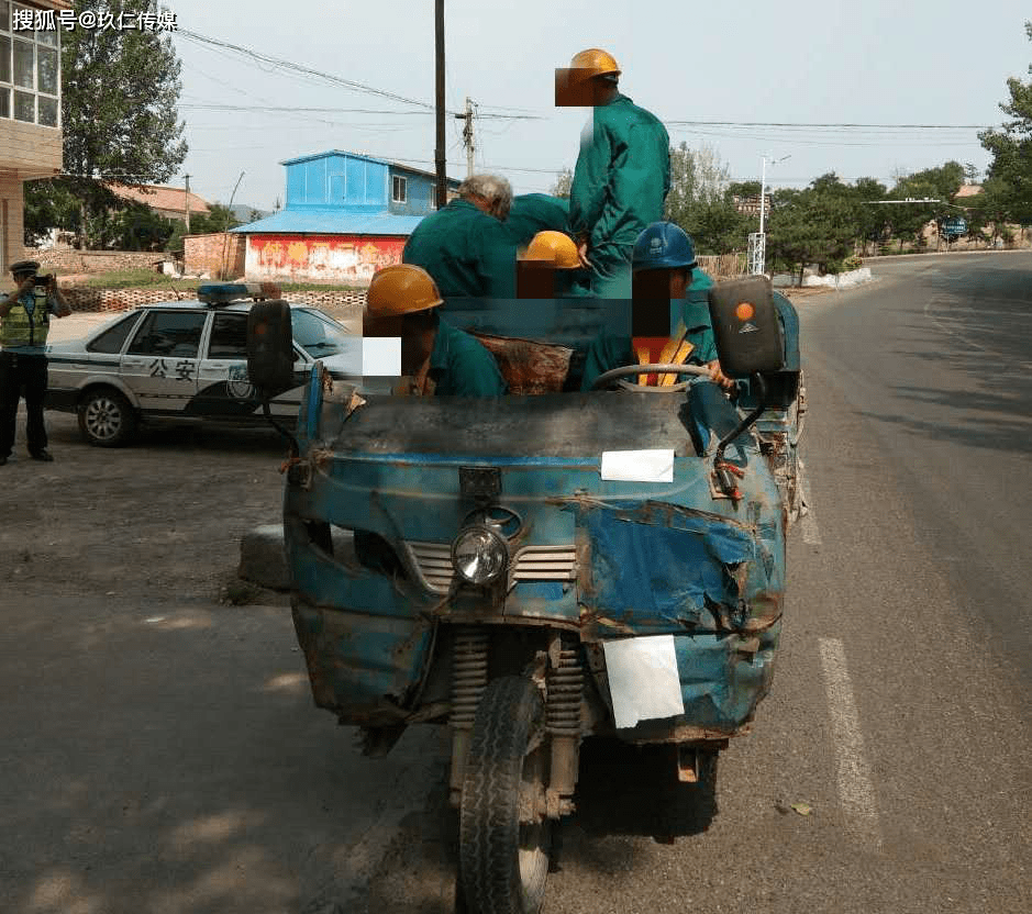
<svg viewBox="0 0 1032 914">
<path fill-rule="evenodd" d="M 1032 21 L 1025 23 L 1025 32 L 1032 40 Z M 1032 222 L 1032 80 L 1011 77 L 1007 88 L 1010 100 L 1001 102 L 1000 110 L 1011 120 L 978 138 L 992 154 L 987 174 L 998 182 L 996 197 L 1006 203 L 1009 219 L 1028 225 Z"/>
</svg>

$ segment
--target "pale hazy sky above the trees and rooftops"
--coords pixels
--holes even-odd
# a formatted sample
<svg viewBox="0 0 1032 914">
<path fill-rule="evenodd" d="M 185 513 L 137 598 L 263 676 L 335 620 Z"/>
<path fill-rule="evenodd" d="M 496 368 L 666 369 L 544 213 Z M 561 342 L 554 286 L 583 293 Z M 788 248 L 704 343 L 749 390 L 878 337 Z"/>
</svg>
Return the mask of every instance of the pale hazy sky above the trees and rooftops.
<svg viewBox="0 0 1032 914">
<path fill-rule="evenodd" d="M 433 103 L 433 0 L 167 2 L 180 29 Z M 462 110 L 468 94 L 484 115 L 539 118 L 478 119 L 476 165 L 506 175 L 517 193 L 547 191 L 555 172 L 576 161 L 587 116 L 553 107 L 555 67 L 603 47 L 623 69 L 621 91 L 663 120 L 675 144 L 715 148 L 734 180 L 758 179 L 764 155 L 789 155 L 768 168 L 773 187 L 803 186 L 826 171 L 891 183 L 899 171 L 951 158 L 984 168 L 977 130 L 670 122 L 999 124 L 1007 77 L 1029 78 L 1030 18 L 1028 0 L 445 0 L 447 105 Z M 182 172 L 210 201 L 226 202 L 244 171 L 236 202 L 271 209 L 284 196 L 279 163 L 332 148 L 433 170 L 432 107 L 328 85 L 185 35 L 175 43 L 190 145 Z M 448 174 L 459 178 L 460 131 L 450 118 Z"/>
</svg>

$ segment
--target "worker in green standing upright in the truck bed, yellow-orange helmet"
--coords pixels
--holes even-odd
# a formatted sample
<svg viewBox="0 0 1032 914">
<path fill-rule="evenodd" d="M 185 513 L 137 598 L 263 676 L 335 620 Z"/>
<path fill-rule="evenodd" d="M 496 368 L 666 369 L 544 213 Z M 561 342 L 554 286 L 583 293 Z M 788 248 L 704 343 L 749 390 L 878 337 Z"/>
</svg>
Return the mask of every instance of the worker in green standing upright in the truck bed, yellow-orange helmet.
<svg viewBox="0 0 1032 914">
<path fill-rule="evenodd" d="M 582 51 L 567 71 L 587 83 L 592 114 L 580 141 L 569 194 L 569 231 L 590 267 L 598 298 L 631 297 L 631 252 L 663 218 L 670 189 L 670 138 L 659 120 L 618 90 L 612 55 Z"/>
</svg>

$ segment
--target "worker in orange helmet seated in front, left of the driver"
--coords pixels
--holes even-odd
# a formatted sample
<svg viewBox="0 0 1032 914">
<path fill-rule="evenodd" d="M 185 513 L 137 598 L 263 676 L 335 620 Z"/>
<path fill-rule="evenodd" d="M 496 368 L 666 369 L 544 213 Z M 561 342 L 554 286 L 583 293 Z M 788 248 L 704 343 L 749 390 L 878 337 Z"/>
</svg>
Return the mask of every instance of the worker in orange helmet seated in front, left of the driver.
<svg viewBox="0 0 1032 914">
<path fill-rule="evenodd" d="M 401 338 L 401 374 L 411 392 L 436 397 L 500 397 L 506 381 L 495 357 L 468 333 L 441 320 L 444 304 L 426 270 L 385 267 L 366 296 L 364 333 Z"/>
</svg>

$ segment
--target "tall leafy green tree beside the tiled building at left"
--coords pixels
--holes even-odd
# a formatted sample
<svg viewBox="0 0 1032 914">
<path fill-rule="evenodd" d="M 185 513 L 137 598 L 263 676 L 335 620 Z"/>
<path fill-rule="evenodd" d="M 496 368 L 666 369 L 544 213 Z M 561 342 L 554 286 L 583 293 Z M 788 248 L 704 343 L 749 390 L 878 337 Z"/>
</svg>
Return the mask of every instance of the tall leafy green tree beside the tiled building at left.
<svg viewBox="0 0 1032 914">
<path fill-rule="evenodd" d="M 156 13 L 156 0 L 74 0 L 78 13 Z M 137 30 L 75 29 L 62 33 L 62 120 L 66 175 L 26 186 L 26 203 L 66 190 L 78 201 L 81 243 L 110 233 L 110 213 L 123 209 L 106 180 L 133 187 L 165 183 L 186 158 L 176 108 L 180 63 L 168 35 Z M 30 226 L 36 231 L 37 225 Z"/>
</svg>

